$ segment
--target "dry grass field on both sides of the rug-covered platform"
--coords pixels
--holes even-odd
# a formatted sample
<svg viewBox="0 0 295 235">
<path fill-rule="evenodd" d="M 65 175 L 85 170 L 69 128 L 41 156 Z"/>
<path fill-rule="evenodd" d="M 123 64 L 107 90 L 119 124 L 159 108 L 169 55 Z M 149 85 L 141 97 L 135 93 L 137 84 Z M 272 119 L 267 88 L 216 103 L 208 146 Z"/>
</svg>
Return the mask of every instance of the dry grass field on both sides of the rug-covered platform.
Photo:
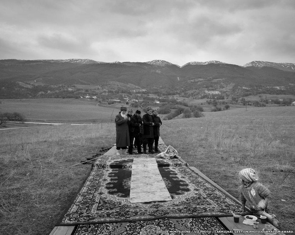
<svg viewBox="0 0 295 235">
<path fill-rule="evenodd" d="M 271 190 L 270 211 L 295 230 L 295 108 L 249 107 L 164 121 L 167 145 L 238 198 L 238 172 L 251 167 Z M 115 143 L 115 125 L 0 130 L 0 234 L 49 234 L 90 165 Z M 285 201 L 281 201 L 285 200 Z"/>
</svg>

